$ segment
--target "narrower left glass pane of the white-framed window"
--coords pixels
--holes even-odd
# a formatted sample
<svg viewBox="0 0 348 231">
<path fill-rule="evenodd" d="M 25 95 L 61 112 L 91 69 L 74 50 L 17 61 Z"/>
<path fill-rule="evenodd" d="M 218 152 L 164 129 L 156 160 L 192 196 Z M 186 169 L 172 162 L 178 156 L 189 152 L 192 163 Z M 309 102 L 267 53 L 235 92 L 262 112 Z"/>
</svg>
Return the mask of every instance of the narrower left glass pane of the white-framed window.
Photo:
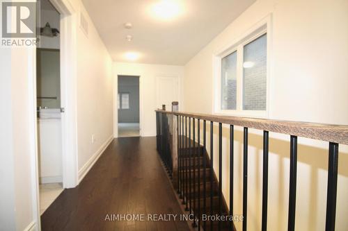
<svg viewBox="0 0 348 231">
<path fill-rule="evenodd" d="M 237 51 L 221 61 L 221 110 L 236 110 Z"/>
</svg>

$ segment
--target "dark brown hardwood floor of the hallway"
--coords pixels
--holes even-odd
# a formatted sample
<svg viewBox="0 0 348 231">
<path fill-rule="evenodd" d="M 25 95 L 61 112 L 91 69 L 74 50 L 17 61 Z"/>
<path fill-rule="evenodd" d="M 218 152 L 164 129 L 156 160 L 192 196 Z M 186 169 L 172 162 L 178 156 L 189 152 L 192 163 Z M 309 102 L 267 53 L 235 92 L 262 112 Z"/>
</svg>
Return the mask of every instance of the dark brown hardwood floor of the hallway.
<svg viewBox="0 0 348 231">
<path fill-rule="evenodd" d="M 79 186 L 42 214 L 42 230 L 189 230 L 178 219 L 109 221 L 107 214 L 182 214 L 155 137 L 114 139 Z"/>
</svg>

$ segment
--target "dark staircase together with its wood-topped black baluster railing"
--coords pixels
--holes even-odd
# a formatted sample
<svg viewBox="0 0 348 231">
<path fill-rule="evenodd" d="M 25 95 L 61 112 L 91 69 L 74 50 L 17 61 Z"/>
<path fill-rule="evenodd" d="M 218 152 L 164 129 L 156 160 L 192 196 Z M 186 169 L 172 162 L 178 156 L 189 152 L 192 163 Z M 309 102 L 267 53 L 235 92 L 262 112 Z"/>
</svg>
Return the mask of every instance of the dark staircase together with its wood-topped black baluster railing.
<svg viewBox="0 0 348 231">
<path fill-rule="evenodd" d="M 177 103 L 175 104 L 177 105 Z M 223 218 L 232 220 L 233 211 L 228 211 L 222 195 L 221 182 L 219 182 L 212 169 L 212 160 L 209 160 L 207 151 L 200 144 L 193 142 L 200 141 L 203 136 L 203 146 L 207 139 L 209 144 L 216 142 L 217 152 L 209 151 L 214 155 L 213 160 L 218 166 L 219 179 L 225 175 L 229 176 L 229 207 L 233 208 L 233 179 L 235 166 L 243 169 L 242 174 L 242 214 L 239 221 L 242 222 L 242 230 L 248 230 L 248 129 L 262 130 L 262 221 L 261 230 L 267 230 L 269 217 L 268 208 L 268 185 L 269 180 L 269 132 L 277 132 L 288 135 L 290 138 L 290 179 L 289 179 L 289 205 L 287 230 L 295 230 L 296 215 L 296 178 L 297 178 L 297 138 L 306 137 L 327 142 L 328 148 L 328 177 L 326 194 L 326 230 L 335 230 L 335 216 L 338 189 L 338 147 L 340 144 L 348 145 L 348 126 L 330 125 L 323 123 L 308 123 L 296 121 L 280 121 L 274 119 L 256 119 L 247 117 L 229 117 L 216 114 L 200 114 L 191 112 L 168 112 L 156 110 L 157 118 L 157 150 L 163 160 L 168 173 L 173 176 L 173 185 L 177 189 L 182 203 L 194 217 L 198 230 L 235 230 L 232 222 L 229 221 L 204 221 L 202 214 L 219 214 Z M 209 132 L 207 131 L 207 124 Z M 229 126 L 229 150 L 223 151 L 223 124 Z M 196 126 L 196 127 L 195 127 Z M 243 151 L 242 165 L 234 163 L 235 147 L 234 134 L 235 126 L 243 128 Z M 197 129 L 196 129 L 197 128 Z M 224 128 L 226 129 L 226 128 Z M 203 132 L 202 132 L 203 130 Z M 214 131 L 218 134 L 214 141 Z M 209 134 L 209 136 L 208 136 Z M 197 139 L 195 138 L 195 135 Z M 168 137 L 170 139 L 168 139 Z M 191 139 L 192 137 L 192 139 Z M 229 156 L 229 172 L 222 173 L 223 155 Z M 299 190 L 301 191 L 301 190 Z M 272 201 L 272 203 L 274 203 Z M 203 204 L 203 205 L 202 205 Z M 232 210 L 232 209 L 231 209 Z M 300 213 L 301 214 L 301 213 Z M 274 219 L 274 218 L 272 218 Z M 255 221 L 252 221 L 255 222 Z"/>
</svg>

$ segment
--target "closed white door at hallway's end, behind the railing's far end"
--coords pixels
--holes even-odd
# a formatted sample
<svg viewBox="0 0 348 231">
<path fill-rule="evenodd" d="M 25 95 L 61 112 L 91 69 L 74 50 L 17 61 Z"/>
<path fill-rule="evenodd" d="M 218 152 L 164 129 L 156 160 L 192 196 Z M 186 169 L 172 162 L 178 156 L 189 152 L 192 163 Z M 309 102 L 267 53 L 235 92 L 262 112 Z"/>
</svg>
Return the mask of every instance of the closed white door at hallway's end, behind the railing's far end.
<svg viewBox="0 0 348 231">
<path fill-rule="evenodd" d="M 179 101 L 177 76 L 157 77 L 157 108 L 165 104 L 166 110 L 171 111 L 173 101 Z"/>
</svg>

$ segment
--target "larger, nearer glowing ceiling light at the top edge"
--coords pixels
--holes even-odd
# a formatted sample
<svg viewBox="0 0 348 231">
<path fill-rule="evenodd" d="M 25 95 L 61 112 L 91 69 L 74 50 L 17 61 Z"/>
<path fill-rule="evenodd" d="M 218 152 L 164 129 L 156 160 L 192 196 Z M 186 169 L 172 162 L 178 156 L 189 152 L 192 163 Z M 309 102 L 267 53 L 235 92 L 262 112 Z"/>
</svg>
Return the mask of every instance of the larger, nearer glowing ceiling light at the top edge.
<svg viewBox="0 0 348 231">
<path fill-rule="evenodd" d="M 161 0 L 150 6 L 150 14 L 156 19 L 171 20 L 183 12 L 184 8 L 179 0 Z"/>
</svg>

